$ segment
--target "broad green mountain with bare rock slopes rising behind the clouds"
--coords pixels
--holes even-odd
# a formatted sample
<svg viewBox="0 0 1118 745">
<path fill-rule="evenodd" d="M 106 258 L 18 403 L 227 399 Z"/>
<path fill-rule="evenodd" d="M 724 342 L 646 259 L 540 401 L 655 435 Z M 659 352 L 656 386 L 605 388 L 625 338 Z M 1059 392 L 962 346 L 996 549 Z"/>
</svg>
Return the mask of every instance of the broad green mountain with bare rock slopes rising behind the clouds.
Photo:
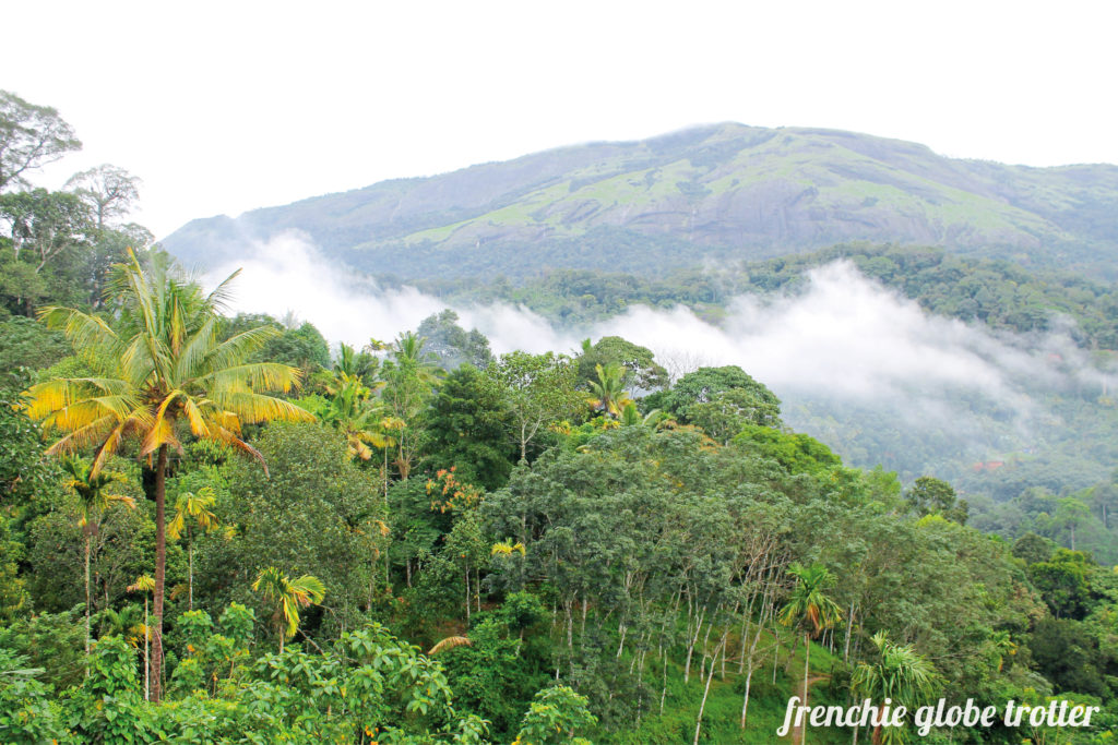
<svg viewBox="0 0 1118 745">
<path fill-rule="evenodd" d="M 239 218 L 164 246 L 187 264 L 299 229 L 372 273 L 655 273 L 871 240 L 1114 273 L 1118 166 L 954 160 L 834 130 L 722 124 L 383 181 Z"/>
</svg>

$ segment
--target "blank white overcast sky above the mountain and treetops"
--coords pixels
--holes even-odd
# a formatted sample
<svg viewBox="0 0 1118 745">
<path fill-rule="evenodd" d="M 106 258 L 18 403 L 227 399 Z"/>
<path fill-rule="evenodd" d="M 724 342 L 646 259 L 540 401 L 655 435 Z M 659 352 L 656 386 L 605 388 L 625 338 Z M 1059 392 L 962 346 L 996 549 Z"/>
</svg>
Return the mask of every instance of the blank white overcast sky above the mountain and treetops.
<svg viewBox="0 0 1118 745">
<path fill-rule="evenodd" d="M 0 88 L 163 237 L 388 178 L 737 121 L 1118 163 L 1118 3 L 9 2 Z"/>
</svg>

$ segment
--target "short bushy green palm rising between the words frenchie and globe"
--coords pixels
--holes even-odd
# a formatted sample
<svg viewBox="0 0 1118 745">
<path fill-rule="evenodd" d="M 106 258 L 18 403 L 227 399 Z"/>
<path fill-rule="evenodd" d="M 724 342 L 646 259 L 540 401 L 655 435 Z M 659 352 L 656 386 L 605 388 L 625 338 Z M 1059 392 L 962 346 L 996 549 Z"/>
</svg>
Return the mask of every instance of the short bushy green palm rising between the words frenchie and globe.
<svg viewBox="0 0 1118 745">
<path fill-rule="evenodd" d="M 851 677 L 850 687 L 859 698 L 883 703 L 891 698 L 893 706 L 904 706 L 916 710 L 931 697 L 938 676 L 931 662 L 918 655 L 912 644 L 894 644 L 884 631 L 870 638 L 878 648 L 878 661 L 873 665 L 860 662 Z M 873 745 L 903 742 L 904 730 L 898 727 L 873 730 Z"/>
</svg>

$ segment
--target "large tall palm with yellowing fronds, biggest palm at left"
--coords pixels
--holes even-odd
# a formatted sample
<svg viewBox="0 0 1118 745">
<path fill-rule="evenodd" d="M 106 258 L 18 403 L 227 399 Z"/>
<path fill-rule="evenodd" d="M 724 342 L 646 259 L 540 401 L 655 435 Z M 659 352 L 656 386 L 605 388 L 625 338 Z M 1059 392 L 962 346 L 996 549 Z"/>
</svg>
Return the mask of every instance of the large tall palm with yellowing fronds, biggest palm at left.
<svg viewBox="0 0 1118 745">
<path fill-rule="evenodd" d="M 165 260 L 145 270 L 135 254 L 114 268 L 107 297 L 119 313 L 116 327 L 80 311 L 46 307 L 39 316 L 61 328 L 74 350 L 95 371 L 89 378 L 55 379 L 28 392 L 28 414 L 64 437 L 48 453 L 93 448 L 96 475 L 125 440 L 154 471 L 155 593 L 152 629 L 152 699 L 162 695 L 163 599 L 167 570 L 167 464 L 182 450 L 180 422 L 195 437 L 225 442 L 267 465 L 240 436 L 244 423 L 268 420 L 312 421 L 299 407 L 264 391 L 291 391 L 300 372 L 271 362 L 245 362 L 278 334 L 262 326 L 225 341 L 217 328 L 230 275 L 203 295 L 198 285 L 174 276 Z"/>
</svg>

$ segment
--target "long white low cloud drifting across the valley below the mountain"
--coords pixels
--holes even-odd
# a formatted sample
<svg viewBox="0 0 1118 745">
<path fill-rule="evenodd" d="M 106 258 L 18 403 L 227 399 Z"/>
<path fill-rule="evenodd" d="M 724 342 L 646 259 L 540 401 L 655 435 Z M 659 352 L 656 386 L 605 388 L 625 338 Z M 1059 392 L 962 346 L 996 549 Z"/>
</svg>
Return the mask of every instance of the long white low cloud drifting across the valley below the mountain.
<svg viewBox="0 0 1118 745">
<path fill-rule="evenodd" d="M 293 312 L 332 342 L 363 345 L 416 328 L 447 303 L 414 288 L 386 289 L 322 257 L 304 238 L 284 235 L 235 264 L 235 311 Z M 988 442 L 972 408 L 1001 411 L 1021 433 L 1035 427 L 1038 393 L 1118 382 L 1089 364 L 1067 325 L 1045 334 L 996 334 L 926 313 L 861 275 L 846 261 L 813 269 L 794 295 L 742 296 L 718 325 L 685 307 L 635 306 L 579 328 L 560 328 L 509 304 L 452 306 L 494 352 L 570 352 L 580 340 L 623 336 L 686 372 L 736 364 L 786 403 L 833 401 L 872 408 L 915 427 L 953 424 L 958 437 Z"/>
</svg>

